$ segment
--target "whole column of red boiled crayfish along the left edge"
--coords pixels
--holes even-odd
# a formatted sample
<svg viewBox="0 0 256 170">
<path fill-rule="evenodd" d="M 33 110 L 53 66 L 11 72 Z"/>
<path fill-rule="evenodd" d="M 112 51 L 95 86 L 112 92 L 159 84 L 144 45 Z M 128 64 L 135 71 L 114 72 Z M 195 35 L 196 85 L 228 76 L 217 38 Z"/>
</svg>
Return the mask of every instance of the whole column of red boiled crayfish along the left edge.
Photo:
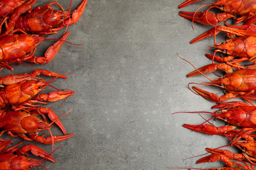
<svg viewBox="0 0 256 170">
<path fill-rule="evenodd" d="M 56 34 L 60 29 L 68 29 L 81 18 L 87 0 L 74 11 L 64 10 L 53 1 L 43 7 L 33 7 L 36 0 L 0 0 L 0 71 L 13 70 L 12 65 L 29 65 L 29 63 L 44 64 L 54 60 L 62 44 L 70 34 L 65 31 L 61 39 L 49 46 L 44 56 L 34 56 L 39 44 L 46 39 L 45 35 Z M 71 5 L 71 3 L 70 3 Z M 25 62 L 25 63 L 24 63 Z M 27 63 L 27 64 L 26 64 Z M 51 76 L 46 80 L 39 75 Z M 54 73 L 44 69 L 34 69 L 31 73 L 20 75 L 0 76 L 0 169 L 33 169 L 42 167 L 45 161 L 56 161 L 53 154 L 54 143 L 58 143 L 74 136 L 68 134 L 60 117 L 66 113 L 57 114 L 45 107 L 48 102 L 60 101 L 74 95 L 73 90 L 53 90 L 41 93 L 50 83 L 58 78 L 66 79 L 66 74 Z M 53 86 L 51 86 L 53 87 Z M 49 121 L 51 120 L 51 121 Z M 56 124 L 63 135 L 53 135 L 51 128 Z M 40 135 L 41 131 L 49 132 L 49 136 Z M 4 139 L 2 135 L 20 137 L 21 143 L 14 144 L 11 139 Z M 34 144 L 18 146 L 24 141 Z M 51 144 L 51 153 L 36 146 L 37 143 Z M 40 156 L 41 160 L 30 158 L 27 152 Z"/>
</svg>

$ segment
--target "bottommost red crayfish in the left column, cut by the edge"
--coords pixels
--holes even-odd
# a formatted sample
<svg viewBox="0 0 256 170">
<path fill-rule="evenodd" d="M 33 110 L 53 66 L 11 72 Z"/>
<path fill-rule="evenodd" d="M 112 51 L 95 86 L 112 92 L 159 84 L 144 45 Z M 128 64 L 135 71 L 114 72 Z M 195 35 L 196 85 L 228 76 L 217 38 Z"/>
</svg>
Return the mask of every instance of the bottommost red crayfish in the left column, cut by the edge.
<svg viewBox="0 0 256 170">
<path fill-rule="evenodd" d="M 12 146 L 11 148 L 5 148 L 11 143 L 11 140 L 8 139 L 7 141 L 0 144 L 0 167 L 1 169 L 33 169 L 33 167 L 40 166 L 42 160 L 36 160 L 33 158 L 28 157 L 26 152 L 32 152 L 35 156 L 41 156 L 42 158 L 50 161 L 56 161 L 50 154 L 45 152 L 45 150 L 30 144 L 25 145 L 22 148 L 16 148 L 19 144 Z M 25 156 L 24 156 L 25 155 Z M 45 168 L 45 167 L 43 167 Z"/>
</svg>

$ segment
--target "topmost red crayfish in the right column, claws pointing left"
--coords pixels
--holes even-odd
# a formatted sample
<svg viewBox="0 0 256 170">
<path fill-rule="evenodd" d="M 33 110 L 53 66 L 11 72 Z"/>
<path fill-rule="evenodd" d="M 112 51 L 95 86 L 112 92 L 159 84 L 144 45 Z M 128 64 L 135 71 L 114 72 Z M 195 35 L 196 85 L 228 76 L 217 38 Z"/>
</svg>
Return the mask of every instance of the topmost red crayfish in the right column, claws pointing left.
<svg viewBox="0 0 256 170">
<path fill-rule="evenodd" d="M 190 5 L 192 3 L 196 3 L 203 0 L 187 0 L 184 3 L 181 3 L 179 5 L 179 8 L 186 7 L 186 5 Z M 241 16 L 240 18 L 236 18 L 236 24 L 242 21 L 246 21 L 252 16 L 256 14 L 256 2 L 254 0 L 218 0 L 213 2 L 211 5 L 205 5 L 210 6 L 209 9 L 216 8 L 224 11 L 224 14 L 217 14 L 215 16 L 215 23 L 211 23 L 211 18 L 208 19 L 208 12 L 209 9 L 205 10 L 205 12 L 183 12 L 181 11 L 181 14 L 184 14 L 184 18 L 188 18 L 189 20 L 194 20 L 194 16 L 196 16 L 196 22 L 198 20 L 202 20 L 201 24 L 207 24 L 207 25 L 215 25 L 217 22 L 222 22 L 223 20 L 226 20 L 227 18 L 231 18 L 232 16 Z M 223 16 L 228 17 L 223 17 Z M 232 15 L 232 16 L 231 16 Z M 211 17 L 214 17 L 214 15 L 211 15 Z M 206 22 L 205 22 L 206 21 Z"/>
</svg>

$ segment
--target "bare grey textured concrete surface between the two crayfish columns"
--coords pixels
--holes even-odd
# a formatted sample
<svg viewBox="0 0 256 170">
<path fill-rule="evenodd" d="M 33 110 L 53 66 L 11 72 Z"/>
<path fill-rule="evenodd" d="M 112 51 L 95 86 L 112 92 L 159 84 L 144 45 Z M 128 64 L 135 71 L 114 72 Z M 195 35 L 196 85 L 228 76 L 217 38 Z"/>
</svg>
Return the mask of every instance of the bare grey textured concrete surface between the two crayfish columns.
<svg viewBox="0 0 256 170">
<path fill-rule="evenodd" d="M 57 1 L 68 10 L 70 1 Z M 204 120 L 198 114 L 172 115 L 179 111 L 209 111 L 214 105 L 190 92 L 189 82 L 207 82 L 207 79 L 186 78 L 194 69 L 177 56 L 179 53 L 201 67 L 211 62 L 204 54 L 211 53 L 207 44 L 213 45 L 211 38 L 189 44 L 211 26 L 195 24 L 193 31 L 192 22 L 178 15 L 182 1 L 88 0 L 79 22 L 68 27 L 71 33 L 67 41 L 83 46 L 64 43 L 51 63 L 30 64 L 61 74 L 74 71 L 67 75 L 68 79 L 52 83 L 58 89 L 75 91 L 60 109 L 61 101 L 47 106 L 59 116 L 72 109 L 61 120 L 67 133 L 75 135 L 54 144 L 54 148 L 63 145 L 53 153 L 55 163 L 45 161 L 47 169 L 223 167 L 223 163 L 196 165 L 199 158 L 186 158 L 204 154 L 206 147 L 228 144 L 226 139 L 181 126 L 202 123 Z M 38 0 L 35 6 L 49 2 Z M 182 10 L 195 11 L 211 2 L 196 3 Z M 72 0 L 72 10 L 80 3 L 81 0 Z M 59 39 L 63 33 L 61 30 L 49 39 Z M 54 42 L 40 44 L 35 55 L 43 55 Z M 1 75 L 33 71 L 24 65 L 14 69 L 2 71 Z M 221 93 L 218 88 L 201 88 Z M 49 87 L 45 92 L 51 90 L 54 89 Z M 213 123 L 224 125 L 216 120 Z M 55 126 L 52 133 L 62 135 Z M 19 140 L 14 139 L 15 143 Z M 51 152 L 51 144 L 37 146 Z"/>
</svg>

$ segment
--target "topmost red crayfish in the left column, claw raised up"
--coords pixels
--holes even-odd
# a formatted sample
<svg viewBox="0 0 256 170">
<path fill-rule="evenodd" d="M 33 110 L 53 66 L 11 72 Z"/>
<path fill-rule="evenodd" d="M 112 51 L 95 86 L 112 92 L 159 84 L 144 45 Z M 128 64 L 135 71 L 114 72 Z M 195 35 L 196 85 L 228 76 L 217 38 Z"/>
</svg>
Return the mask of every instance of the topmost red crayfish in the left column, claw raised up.
<svg viewBox="0 0 256 170">
<path fill-rule="evenodd" d="M 61 10 L 52 9 L 51 5 L 56 4 Z M 34 34 L 52 34 L 56 33 L 62 27 L 75 24 L 81 15 L 87 4 L 87 0 L 83 0 L 81 5 L 74 10 L 74 12 L 65 11 L 57 2 L 49 3 L 44 7 L 36 7 L 24 15 L 19 17 L 10 17 L 10 21 L 7 24 L 7 18 L 0 24 L 6 25 L 6 31 L 10 32 L 13 29 L 19 29 L 23 31 L 30 31 Z M 14 14 L 16 16 L 16 14 Z"/>
</svg>

